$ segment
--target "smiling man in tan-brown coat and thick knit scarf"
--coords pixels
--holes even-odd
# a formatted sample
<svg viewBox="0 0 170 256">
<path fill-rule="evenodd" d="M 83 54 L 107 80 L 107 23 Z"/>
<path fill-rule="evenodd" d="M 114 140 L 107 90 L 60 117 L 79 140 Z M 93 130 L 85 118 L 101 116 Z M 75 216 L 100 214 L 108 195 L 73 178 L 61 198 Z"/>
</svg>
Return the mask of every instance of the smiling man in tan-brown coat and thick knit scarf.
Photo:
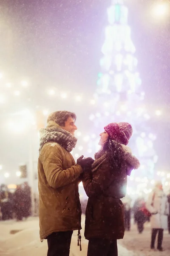
<svg viewBox="0 0 170 256">
<path fill-rule="evenodd" d="M 91 166 L 93 160 L 82 156 L 76 164 L 70 153 L 77 143 L 75 121 L 75 113 L 57 111 L 40 130 L 40 239 L 47 239 L 48 256 L 69 256 L 73 230 L 81 229 L 79 176 L 83 165 Z"/>
</svg>

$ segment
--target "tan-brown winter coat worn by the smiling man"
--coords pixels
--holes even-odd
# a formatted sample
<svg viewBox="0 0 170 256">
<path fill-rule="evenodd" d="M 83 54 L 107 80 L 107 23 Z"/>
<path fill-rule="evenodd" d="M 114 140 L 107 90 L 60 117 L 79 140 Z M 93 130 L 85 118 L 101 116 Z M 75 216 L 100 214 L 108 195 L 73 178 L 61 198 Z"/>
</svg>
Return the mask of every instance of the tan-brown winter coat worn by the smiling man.
<svg viewBox="0 0 170 256">
<path fill-rule="evenodd" d="M 81 166 L 55 142 L 45 143 L 38 159 L 40 239 L 51 233 L 81 229 L 78 177 Z"/>
</svg>

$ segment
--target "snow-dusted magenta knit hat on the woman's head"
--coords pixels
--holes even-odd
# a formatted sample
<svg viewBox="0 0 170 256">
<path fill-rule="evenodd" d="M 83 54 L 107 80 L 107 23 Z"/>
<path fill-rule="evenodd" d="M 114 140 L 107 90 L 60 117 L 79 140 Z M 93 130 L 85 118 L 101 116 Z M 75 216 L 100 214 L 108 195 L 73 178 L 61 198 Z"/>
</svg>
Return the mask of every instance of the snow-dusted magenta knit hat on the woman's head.
<svg viewBox="0 0 170 256">
<path fill-rule="evenodd" d="M 111 140 L 127 145 L 132 136 L 132 126 L 127 122 L 110 123 L 104 127 Z"/>
</svg>

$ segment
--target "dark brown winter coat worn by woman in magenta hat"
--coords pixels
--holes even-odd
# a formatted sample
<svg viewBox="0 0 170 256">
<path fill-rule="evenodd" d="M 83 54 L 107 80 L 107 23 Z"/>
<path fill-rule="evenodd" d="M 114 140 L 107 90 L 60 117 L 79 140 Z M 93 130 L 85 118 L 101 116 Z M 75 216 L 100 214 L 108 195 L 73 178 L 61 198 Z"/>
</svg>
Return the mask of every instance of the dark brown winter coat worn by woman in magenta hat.
<svg viewBox="0 0 170 256">
<path fill-rule="evenodd" d="M 124 206 L 127 175 L 122 169 L 111 169 L 108 159 L 95 172 L 85 172 L 83 185 L 88 195 L 85 217 L 85 238 L 122 239 L 125 232 Z"/>
</svg>

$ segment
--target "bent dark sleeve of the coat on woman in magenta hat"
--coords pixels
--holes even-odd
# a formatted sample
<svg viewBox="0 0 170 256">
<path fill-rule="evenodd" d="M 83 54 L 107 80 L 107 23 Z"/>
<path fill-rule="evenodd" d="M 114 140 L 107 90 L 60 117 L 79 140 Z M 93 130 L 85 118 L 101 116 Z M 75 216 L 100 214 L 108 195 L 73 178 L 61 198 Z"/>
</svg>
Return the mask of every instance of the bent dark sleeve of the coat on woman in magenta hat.
<svg viewBox="0 0 170 256">
<path fill-rule="evenodd" d="M 82 176 L 82 183 L 88 197 L 102 194 L 113 182 L 113 174 L 111 174 L 111 166 L 104 162 L 92 175 L 91 170 L 86 170 Z M 114 178 L 116 179 L 115 175 Z"/>
</svg>

